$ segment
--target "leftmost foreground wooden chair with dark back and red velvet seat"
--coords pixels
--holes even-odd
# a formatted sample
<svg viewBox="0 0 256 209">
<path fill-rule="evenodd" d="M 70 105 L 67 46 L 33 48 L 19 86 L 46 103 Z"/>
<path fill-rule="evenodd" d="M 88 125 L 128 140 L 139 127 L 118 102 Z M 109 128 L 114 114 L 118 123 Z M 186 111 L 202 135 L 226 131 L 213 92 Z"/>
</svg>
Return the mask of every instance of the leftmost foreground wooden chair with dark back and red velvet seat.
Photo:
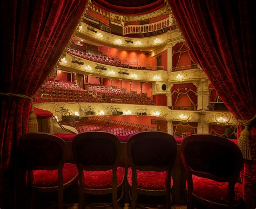
<svg viewBox="0 0 256 209">
<path fill-rule="evenodd" d="M 22 156 L 28 169 L 31 205 L 35 192 L 58 192 L 58 206 L 63 208 L 63 189 L 78 178 L 75 164 L 64 163 L 66 143 L 47 133 L 28 133 L 20 138 Z"/>
</svg>

